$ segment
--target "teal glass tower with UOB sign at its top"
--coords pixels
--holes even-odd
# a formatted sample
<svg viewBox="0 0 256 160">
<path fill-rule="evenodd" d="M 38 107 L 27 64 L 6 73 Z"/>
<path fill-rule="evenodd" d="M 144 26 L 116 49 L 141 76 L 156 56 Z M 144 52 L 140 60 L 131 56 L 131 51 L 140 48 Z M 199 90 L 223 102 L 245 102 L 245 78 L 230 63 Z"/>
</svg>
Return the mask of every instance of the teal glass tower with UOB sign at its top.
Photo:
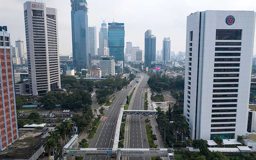
<svg viewBox="0 0 256 160">
<path fill-rule="evenodd" d="M 124 23 L 108 23 L 109 56 L 124 61 Z"/>
</svg>

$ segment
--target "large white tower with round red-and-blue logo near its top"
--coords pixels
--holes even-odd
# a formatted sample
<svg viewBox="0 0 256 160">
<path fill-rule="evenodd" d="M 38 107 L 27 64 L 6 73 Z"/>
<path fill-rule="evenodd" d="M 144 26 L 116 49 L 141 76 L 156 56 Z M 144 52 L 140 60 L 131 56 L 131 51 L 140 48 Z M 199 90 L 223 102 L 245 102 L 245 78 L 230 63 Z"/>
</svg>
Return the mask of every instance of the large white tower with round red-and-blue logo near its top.
<svg viewBox="0 0 256 160">
<path fill-rule="evenodd" d="M 187 17 L 184 116 L 191 139 L 246 135 L 254 29 L 253 11 Z"/>
</svg>

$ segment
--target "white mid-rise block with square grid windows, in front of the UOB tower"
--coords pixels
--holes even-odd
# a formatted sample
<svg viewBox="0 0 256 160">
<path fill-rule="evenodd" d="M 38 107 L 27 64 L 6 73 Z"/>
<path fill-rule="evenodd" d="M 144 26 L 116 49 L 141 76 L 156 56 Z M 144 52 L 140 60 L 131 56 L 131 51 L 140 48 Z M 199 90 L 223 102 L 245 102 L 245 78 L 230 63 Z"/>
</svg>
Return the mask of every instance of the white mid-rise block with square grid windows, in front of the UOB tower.
<svg viewBox="0 0 256 160">
<path fill-rule="evenodd" d="M 100 57 L 100 70 L 101 74 L 105 76 L 115 75 L 115 57 Z"/>
</svg>

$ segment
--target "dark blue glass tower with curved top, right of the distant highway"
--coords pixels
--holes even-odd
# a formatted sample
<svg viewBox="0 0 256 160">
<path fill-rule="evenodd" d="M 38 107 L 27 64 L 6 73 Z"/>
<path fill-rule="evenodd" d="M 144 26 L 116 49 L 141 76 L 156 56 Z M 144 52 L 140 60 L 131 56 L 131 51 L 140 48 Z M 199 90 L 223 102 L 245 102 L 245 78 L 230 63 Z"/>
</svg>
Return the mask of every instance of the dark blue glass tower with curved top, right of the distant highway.
<svg viewBox="0 0 256 160">
<path fill-rule="evenodd" d="M 151 30 L 145 32 L 145 69 L 151 69 L 151 62 L 156 61 L 156 37 L 151 34 Z"/>
</svg>

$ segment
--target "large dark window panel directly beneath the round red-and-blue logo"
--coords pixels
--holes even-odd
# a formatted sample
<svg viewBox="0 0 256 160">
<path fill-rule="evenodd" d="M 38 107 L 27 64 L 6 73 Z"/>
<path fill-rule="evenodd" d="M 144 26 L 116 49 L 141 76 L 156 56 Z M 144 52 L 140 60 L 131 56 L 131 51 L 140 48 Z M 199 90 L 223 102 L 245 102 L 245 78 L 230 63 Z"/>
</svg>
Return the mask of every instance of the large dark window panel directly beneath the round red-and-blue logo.
<svg viewBox="0 0 256 160">
<path fill-rule="evenodd" d="M 216 40 L 241 40 L 242 29 L 216 29 Z"/>
</svg>

